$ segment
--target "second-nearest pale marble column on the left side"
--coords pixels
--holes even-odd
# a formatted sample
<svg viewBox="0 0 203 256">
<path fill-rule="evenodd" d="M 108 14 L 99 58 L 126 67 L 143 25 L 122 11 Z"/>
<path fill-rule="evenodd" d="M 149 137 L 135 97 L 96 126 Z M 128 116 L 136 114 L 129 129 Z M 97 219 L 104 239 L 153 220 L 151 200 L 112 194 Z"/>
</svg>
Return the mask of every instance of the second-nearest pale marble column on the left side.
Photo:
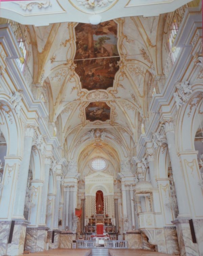
<svg viewBox="0 0 203 256">
<path fill-rule="evenodd" d="M 46 226 L 46 208 L 47 208 L 47 196 L 48 196 L 48 185 L 49 185 L 49 172 L 51 166 L 52 158 L 51 156 L 45 157 L 44 165 L 44 184 L 42 187 L 42 199 L 41 199 L 41 208 L 40 208 L 40 226 Z"/>
</svg>

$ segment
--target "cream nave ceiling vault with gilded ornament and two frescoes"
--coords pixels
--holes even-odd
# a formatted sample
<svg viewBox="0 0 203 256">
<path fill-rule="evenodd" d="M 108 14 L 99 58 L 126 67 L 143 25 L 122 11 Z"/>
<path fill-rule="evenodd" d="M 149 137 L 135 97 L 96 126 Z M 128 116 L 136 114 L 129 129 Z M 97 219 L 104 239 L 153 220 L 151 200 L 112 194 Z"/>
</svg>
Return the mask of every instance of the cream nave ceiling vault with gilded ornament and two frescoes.
<svg viewBox="0 0 203 256">
<path fill-rule="evenodd" d="M 157 45 L 164 22 L 160 15 L 28 27 L 34 81 L 47 94 L 49 120 L 69 160 L 75 158 L 75 145 L 96 128 L 107 133 L 107 144 L 115 141 L 124 148 L 124 158 L 131 158 L 139 122 L 147 118 L 150 86 L 162 74 Z"/>
</svg>

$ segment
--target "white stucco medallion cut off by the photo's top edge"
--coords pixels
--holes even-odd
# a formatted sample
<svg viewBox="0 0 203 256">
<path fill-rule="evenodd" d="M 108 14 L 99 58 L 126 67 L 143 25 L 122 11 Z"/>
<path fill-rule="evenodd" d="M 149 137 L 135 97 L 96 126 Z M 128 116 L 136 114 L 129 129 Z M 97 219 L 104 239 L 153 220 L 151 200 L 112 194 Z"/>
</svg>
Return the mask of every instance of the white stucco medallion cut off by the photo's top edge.
<svg viewBox="0 0 203 256">
<path fill-rule="evenodd" d="M 85 13 L 101 13 L 109 10 L 118 0 L 69 0 L 79 11 Z"/>
</svg>

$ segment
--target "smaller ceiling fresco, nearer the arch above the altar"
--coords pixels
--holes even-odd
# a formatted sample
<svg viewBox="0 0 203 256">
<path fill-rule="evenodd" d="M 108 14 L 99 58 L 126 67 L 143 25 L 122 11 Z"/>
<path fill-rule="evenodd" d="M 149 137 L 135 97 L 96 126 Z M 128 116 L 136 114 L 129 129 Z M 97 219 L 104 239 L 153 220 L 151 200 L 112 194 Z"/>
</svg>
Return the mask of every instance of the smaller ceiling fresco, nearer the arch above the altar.
<svg viewBox="0 0 203 256">
<path fill-rule="evenodd" d="M 111 108 L 106 104 L 106 102 L 90 102 L 90 104 L 85 108 L 86 120 L 91 122 L 107 121 L 110 119 Z"/>
</svg>

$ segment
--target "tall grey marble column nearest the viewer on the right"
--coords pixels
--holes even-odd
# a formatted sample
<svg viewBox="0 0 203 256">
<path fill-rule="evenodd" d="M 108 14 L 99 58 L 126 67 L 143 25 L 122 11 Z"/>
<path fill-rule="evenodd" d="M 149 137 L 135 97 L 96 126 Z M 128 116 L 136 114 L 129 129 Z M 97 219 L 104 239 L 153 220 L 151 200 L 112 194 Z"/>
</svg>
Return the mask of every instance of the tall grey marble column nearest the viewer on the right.
<svg viewBox="0 0 203 256">
<path fill-rule="evenodd" d="M 181 217 L 181 215 L 189 216 L 189 203 L 186 196 L 187 193 L 186 193 L 184 178 L 181 171 L 180 161 L 179 161 L 177 150 L 176 150 L 173 122 L 166 121 L 163 126 L 166 132 L 168 151 L 169 151 L 171 166 L 173 171 L 174 185 L 175 185 L 177 201 L 178 201 L 179 217 Z"/>
</svg>

